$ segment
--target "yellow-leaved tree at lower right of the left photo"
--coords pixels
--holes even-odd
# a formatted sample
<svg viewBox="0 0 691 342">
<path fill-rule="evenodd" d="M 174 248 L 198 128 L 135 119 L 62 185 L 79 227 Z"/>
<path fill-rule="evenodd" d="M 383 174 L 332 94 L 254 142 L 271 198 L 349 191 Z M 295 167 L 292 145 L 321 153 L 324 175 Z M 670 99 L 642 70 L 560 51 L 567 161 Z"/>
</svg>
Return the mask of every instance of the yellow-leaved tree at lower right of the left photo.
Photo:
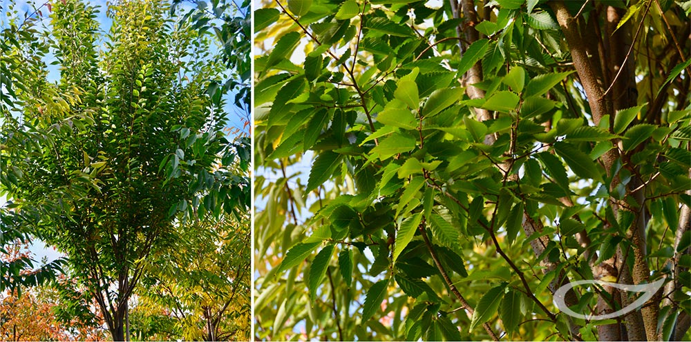
<svg viewBox="0 0 691 342">
<path fill-rule="evenodd" d="M 178 230 L 184 243 L 155 256 L 159 266 L 142 279 L 138 308 L 144 319 L 165 309 L 155 320 L 171 323 L 157 340 L 249 339 L 249 227 L 247 215 L 192 222 Z"/>
</svg>

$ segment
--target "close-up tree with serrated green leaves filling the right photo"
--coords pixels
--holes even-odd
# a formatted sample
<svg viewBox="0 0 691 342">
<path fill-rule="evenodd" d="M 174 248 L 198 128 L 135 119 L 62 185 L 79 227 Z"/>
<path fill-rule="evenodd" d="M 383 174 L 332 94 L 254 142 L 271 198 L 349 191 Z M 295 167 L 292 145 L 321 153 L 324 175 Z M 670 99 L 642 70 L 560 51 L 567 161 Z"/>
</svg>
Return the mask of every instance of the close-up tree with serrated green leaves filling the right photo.
<svg viewBox="0 0 691 342">
<path fill-rule="evenodd" d="M 429 6 L 254 13 L 256 336 L 689 339 L 690 3 Z"/>
</svg>

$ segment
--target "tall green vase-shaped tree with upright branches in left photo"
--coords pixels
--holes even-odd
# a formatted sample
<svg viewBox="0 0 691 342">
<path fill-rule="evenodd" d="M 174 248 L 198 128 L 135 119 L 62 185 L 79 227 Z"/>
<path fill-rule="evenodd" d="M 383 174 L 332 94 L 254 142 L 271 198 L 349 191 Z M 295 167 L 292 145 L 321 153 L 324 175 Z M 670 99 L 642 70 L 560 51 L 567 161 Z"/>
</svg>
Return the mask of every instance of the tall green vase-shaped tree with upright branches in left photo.
<svg viewBox="0 0 691 342">
<path fill-rule="evenodd" d="M 13 210 L 68 254 L 77 285 L 122 341 L 131 294 L 173 223 L 245 212 L 249 183 L 226 165 L 238 157 L 247 168 L 247 139 L 223 132 L 226 90 L 211 92 L 208 80 L 225 66 L 209 39 L 168 17 L 164 1 L 109 6 L 104 50 L 95 8 L 71 0 L 48 10 L 59 84 L 46 80 L 48 46 L 8 46 L 22 86 L 2 113 L 0 184 L 12 201 L 3 214 Z"/>
</svg>

